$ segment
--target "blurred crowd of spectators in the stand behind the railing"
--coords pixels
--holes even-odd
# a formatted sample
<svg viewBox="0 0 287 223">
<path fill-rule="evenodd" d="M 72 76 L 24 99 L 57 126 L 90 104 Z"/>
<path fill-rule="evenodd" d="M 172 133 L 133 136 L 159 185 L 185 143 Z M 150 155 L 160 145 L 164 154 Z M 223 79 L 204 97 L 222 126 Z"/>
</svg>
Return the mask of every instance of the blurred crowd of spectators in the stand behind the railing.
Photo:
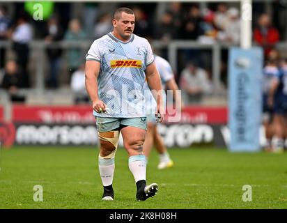
<svg viewBox="0 0 287 223">
<path fill-rule="evenodd" d="M 33 87 L 28 67 L 31 63 L 31 41 L 45 40 L 45 43 L 49 44 L 59 40 L 81 41 L 100 38 L 112 30 L 112 9 L 118 6 L 122 5 L 113 4 L 109 10 L 102 10 L 100 3 L 82 3 L 82 13 L 78 13 L 77 16 L 72 12 L 72 3 L 54 3 L 54 12 L 45 21 L 33 20 L 24 10 L 24 3 L 15 3 L 13 15 L 10 15 L 5 5 L 0 6 L 0 40 L 11 40 L 13 52 L 8 55 L 6 49 L 1 47 L 1 88 L 15 93 L 19 88 Z M 165 43 L 169 43 L 170 40 L 194 40 L 199 43 L 238 45 L 239 7 L 230 6 L 228 3 L 210 3 L 206 6 L 202 8 L 198 3 L 180 2 L 128 4 L 136 17 L 134 33 L 139 36 Z M 260 7 L 254 15 L 253 40 L 264 47 L 267 56 L 274 45 L 286 36 L 281 35 L 280 22 L 275 20 L 277 24 L 272 23 L 272 15 L 265 13 Z M 227 75 L 224 72 L 227 53 L 222 55 L 222 82 L 226 83 L 224 77 Z M 84 78 L 84 55 L 80 49 L 70 48 L 63 52 L 61 48 L 47 48 L 46 57 L 49 68 L 45 79 L 46 88 L 61 87 L 59 75 L 65 60 L 66 75 L 71 88 L 82 92 L 83 89 L 75 84 L 75 79 L 79 80 L 81 75 L 82 79 Z M 198 49 L 184 50 L 179 58 L 182 61 L 178 70 L 175 70 L 176 80 L 184 90 L 187 100 L 193 98 L 190 102 L 199 102 L 201 95 L 212 93 L 211 52 L 206 56 L 204 51 Z M 76 98 L 75 102 L 78 100 L 79 98 Z"/>
</svg>

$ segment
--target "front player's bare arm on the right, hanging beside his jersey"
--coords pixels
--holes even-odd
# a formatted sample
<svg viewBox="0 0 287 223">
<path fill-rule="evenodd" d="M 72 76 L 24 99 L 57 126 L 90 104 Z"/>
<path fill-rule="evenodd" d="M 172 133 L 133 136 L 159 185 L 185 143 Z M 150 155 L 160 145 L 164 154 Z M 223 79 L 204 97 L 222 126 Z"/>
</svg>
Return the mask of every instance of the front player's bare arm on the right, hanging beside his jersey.
<svg viewBox="0 0 287 223">
<path fill-rule="evenodd" d="M 157 101 L 157 114 L 160 113 L 160 122 L 164 120 L 164 110 L 162 105 L 162 82 L 160 80 L 160 74 L 157 71 L 155 62 L 146 67 L 146 81 L 153 93 L 153 97 Z M 155 93 L 156 92 L 156 93 Z"/>
</svg>

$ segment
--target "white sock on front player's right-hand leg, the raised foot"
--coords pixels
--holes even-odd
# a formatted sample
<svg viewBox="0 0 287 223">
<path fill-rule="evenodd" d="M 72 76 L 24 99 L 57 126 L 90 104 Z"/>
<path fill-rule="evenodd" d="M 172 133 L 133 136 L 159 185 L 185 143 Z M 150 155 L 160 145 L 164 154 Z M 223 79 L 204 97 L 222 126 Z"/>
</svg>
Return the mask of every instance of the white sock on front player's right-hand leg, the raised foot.
<svg viewBox="0 0 287 223">
<path fill-rule="evenodd" d="M 146 157 L 144 155 L 130 156 L 129 168 L 136 183 L 139 180 L 146 180 Z"/>
</svg>

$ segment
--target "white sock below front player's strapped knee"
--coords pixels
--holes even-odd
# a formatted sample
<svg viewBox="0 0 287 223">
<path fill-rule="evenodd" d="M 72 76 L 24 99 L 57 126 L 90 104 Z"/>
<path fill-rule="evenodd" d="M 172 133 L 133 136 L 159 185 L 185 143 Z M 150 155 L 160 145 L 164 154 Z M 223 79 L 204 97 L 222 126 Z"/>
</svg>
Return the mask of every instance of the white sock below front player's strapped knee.
<svg viewBox="0 0 287 223">
<path fill-rule="evenodd" d="M 99 157 L 100 178 L 102 179 L 102 185 L 104 185 L 104 187 L 113 183 L 114 169 L 114 158 L 103 159 L 102 157 Z"/>
</svg>

